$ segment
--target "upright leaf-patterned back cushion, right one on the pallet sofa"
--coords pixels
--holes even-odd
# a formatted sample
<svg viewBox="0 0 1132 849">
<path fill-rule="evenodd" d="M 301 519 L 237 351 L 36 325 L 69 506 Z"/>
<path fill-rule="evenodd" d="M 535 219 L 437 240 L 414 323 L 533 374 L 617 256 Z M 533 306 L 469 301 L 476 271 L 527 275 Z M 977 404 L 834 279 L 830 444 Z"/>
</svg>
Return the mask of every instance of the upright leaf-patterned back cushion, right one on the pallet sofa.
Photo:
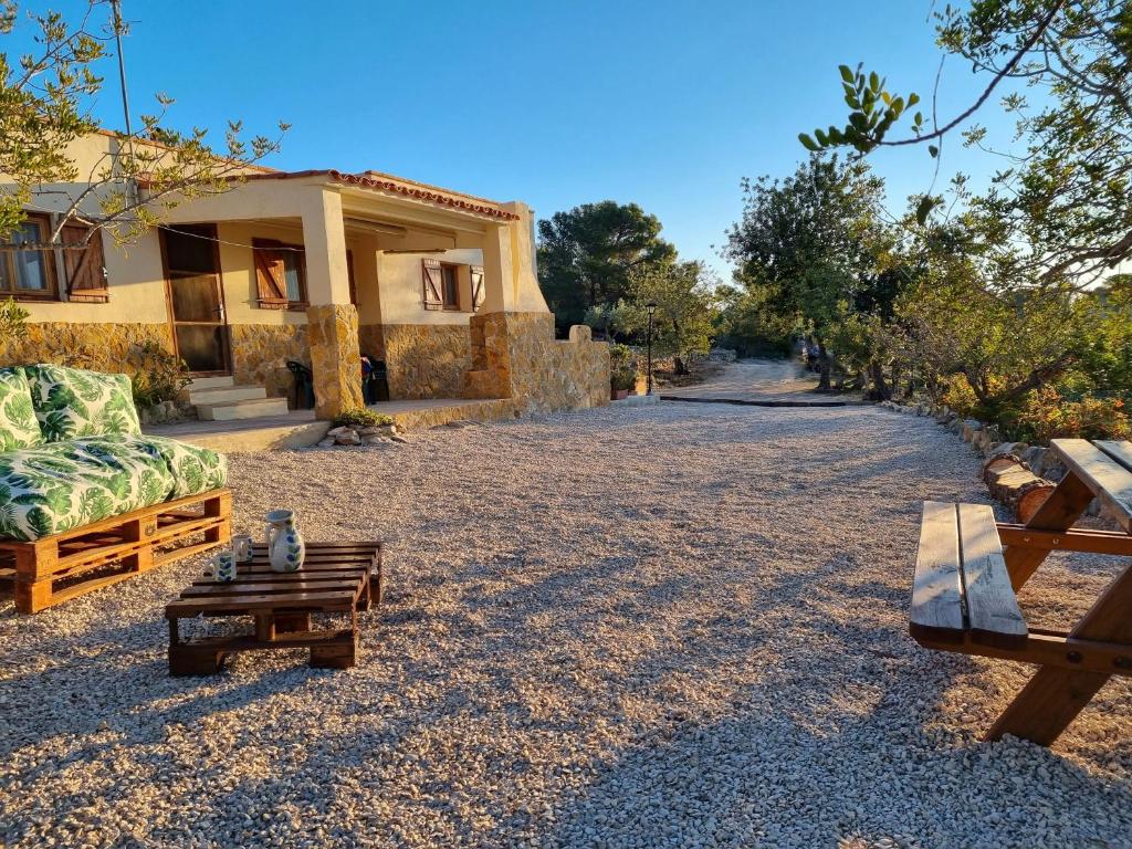
<svg viewBox="0 0 1132 849">
<path fill-rule="evenodd" d="M 42 363 L 26 366 L 24 371 L 32 387 L 32 405 L 46 441 L 142 432 L 127 375 L 105 375 Z"/>
</svg>

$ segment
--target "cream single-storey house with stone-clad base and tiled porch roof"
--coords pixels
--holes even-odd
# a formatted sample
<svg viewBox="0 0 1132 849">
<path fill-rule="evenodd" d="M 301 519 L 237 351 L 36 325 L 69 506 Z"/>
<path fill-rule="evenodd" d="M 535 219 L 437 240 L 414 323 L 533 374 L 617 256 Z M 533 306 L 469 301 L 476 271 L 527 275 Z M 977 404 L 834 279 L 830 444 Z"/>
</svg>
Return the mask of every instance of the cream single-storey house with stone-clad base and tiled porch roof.
<svg viewBox="0 0 1132 849">
<path fill-rule="evenodd" d="M 69 153 L 86 173 L 117 144 L 93 134 Z M 82 188 L 45 187 L 17 239 L 44 241 Z M 607 346 L 585 327 L 554 338 L 522 203 L 376 171 L 252 169 L 161 216 L 125 247 L 96 233 L 85 251 L 0 250 L 0 297 L 31 312 L 25 341 L 0 341 L 5 365 L 130 371 L 156 342 L 188 363 L 205 418 L 294 405 L 289 361 L 312 369 L 319 418 L 361 406 L 361 354 L 384 360 L 394 400 L 608 402 Z M 68 225 L 63 241 L 83 235 Z"/>
</svg>

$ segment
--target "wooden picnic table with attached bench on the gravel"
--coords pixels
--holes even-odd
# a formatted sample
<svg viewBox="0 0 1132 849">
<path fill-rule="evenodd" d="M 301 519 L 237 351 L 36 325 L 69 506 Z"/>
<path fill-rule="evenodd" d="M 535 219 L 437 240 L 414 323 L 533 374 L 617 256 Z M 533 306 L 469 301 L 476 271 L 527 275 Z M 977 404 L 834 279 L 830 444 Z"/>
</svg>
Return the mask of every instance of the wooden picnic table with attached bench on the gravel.
<svg viewBox="0 0 1132 849">
<path fill-rule="evenodd" d="M 1028 626 L 1017 593 L 1050 551 L 1132 556 L 1132 443 L 1054 439 L 1067 473 L 1026 524 L 986 505 L 926 501 L 909 631 L 923 646 L 1038 666 L 985 739 L 1050 745 L 1110 676 L 1132 672 L 1132 567 L 1073 627 Z M 1123 531 L 1074 529 L 1098 498 Z"/>
</svg>

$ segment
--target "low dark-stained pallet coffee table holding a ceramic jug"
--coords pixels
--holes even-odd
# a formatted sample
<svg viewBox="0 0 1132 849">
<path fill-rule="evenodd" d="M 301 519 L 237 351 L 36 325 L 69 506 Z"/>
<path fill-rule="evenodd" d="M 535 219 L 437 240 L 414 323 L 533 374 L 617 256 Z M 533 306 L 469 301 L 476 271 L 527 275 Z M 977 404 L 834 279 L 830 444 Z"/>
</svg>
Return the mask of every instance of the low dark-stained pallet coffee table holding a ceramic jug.
<svg viewBox="0 0 1132 849">
<path fill-rule="evenodd" d="M 380 542 L 308 542 L 298 572 L 273 572 L 264 544 L 231 583 L 201 576 L 165 606 L 169 674 L 212 675 L 233 652 L 310 649 L 312 667 L 346 669 L 358 657 L 358 611 L 381 601 Z M 315 614 L 350 616 L 348 628 L 315 628 Z M 181 638 L 181 619 L 251 617 L 251 633 Z"/>
</svg>

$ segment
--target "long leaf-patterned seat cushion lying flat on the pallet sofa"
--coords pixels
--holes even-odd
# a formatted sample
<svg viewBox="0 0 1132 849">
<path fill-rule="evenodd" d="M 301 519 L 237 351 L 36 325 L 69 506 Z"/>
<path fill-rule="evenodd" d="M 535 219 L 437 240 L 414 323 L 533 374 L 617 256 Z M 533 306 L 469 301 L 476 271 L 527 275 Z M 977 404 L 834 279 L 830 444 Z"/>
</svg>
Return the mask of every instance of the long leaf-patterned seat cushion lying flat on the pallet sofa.
<svg viewBox="0 0 1132 849">
<path fill-rule="evenodd" d="M 36 540 L 226 482 L 222 454 L 162 437 L 111 434 L 9 452 L 0 454 L 0 537 Z"/>
</svg>

